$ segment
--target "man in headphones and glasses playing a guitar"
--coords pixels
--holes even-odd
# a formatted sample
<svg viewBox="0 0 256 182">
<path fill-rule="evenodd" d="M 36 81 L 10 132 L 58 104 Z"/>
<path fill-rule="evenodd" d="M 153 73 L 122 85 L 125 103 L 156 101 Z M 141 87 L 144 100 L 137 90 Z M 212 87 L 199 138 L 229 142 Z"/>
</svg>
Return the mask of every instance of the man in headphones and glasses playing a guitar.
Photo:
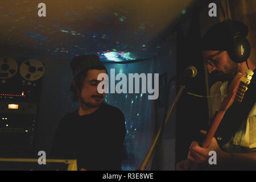
<svg viewBox="0 0 256 182">
<path fill-rule="evenodd" d="M 247 34 L 245 24 L 225 20 L 211 27 L 203 36 L 201 50 L 204 62 L 208 72 L 220 80 L 210 88 L 210 118 L 220 108 L 234 76 L 238 72 L 244 74 L 248 69 L 256 72 L 256 66 L 249 59 Z M 217 130 L 210 146 L 203 148 L 199 142 L 192 142 L 187 159 L 177 163 L 177 170 L 193 169 L 193 162 L 209 164 L 210 151 L 216 151 L 215 169 L 256 169 L 255 80 L 254 74 L 248 93 L 245 93 L 245 101 L 237 106 L 237 110 L 232 108 L 228 110 L 229 113 L 227 111 L 227 116 L 222 119 L 224 124 L 220 125 L 222 128 Z"/>
</svg>

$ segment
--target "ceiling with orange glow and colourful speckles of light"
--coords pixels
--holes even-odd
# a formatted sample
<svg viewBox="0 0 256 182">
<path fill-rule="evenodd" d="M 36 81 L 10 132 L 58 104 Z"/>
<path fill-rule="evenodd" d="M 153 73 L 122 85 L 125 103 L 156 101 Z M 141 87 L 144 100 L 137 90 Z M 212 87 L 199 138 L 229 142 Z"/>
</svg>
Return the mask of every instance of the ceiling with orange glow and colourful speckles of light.
<svg viewBox="0 0 256 182">
<path fill-rule="evenodd" d="M 38 16 L 40 2 L 46 17 Z M 1 0 L 1 50 L 31 58 L 96 53 L 102 61 L 144 59 L 155 55 L 161 36 L 193 2 Z"/>
</svg>

